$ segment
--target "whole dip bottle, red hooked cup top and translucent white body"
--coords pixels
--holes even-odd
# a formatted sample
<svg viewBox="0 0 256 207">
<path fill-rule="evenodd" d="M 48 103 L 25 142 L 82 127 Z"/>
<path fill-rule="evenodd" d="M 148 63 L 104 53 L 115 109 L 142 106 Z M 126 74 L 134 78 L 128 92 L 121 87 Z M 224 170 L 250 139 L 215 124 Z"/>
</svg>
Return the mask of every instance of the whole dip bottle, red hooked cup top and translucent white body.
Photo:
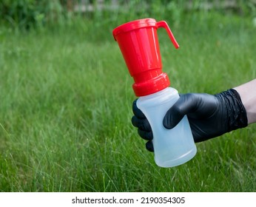
<svg viewBox="0 0 256 207">
<path fill-rule="evenodd" d="M 192 159 L 196 146 L 186 116 L 173 129 L 163 125 L 164 115 L 179 95 L 162 72 L 157 30 L 164 27 L 176 48 L 179 47 L 166 21 L 143 18 L 116 27 L 112 34 L 135 83 L 137 106 L 149 120 L 153 133 L 155 163 L 161 167 L 178 166 Z"/>
</svg>

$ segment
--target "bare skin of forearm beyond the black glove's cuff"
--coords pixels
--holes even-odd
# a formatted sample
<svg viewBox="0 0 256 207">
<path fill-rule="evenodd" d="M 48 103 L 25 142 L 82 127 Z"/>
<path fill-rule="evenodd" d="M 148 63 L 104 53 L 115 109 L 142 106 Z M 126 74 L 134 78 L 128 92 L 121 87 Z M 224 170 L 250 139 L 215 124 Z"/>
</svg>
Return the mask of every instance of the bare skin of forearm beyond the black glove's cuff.
<svg viewBox="0 0 256 207">
<path fill-rule="evenodd" d="M 234 88 L 240 95 L 249 123 L 256 122 L 256 79 Z"/>
</svg>

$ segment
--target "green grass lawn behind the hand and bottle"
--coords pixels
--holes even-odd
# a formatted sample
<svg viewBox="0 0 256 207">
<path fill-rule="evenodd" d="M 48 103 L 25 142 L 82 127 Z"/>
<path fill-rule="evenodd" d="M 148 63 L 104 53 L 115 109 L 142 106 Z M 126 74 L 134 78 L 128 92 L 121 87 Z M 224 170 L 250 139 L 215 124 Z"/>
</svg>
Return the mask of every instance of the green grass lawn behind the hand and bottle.
<svg viewBox="0 0 256 207">
<path fill-rule="evenodd" d="M 179 92 L 213 94 L 255 78 L 251 19 L 203 13 L 169 24 L 181 48 L 164 30 L 159 41 Z M 0 27 L 0 191 L 256 190 L 253 125 L 198 143 L 182 166 L 156 166 L 130 122 L 135 95 L 117 25 L 105 34 L 87 25 Z"/>
</svg>

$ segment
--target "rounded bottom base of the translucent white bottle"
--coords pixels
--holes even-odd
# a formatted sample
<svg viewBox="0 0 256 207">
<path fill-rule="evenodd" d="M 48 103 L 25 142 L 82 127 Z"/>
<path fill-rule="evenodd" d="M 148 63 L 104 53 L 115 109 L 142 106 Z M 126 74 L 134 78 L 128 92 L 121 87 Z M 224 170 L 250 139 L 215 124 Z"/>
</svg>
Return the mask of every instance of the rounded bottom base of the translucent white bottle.
<svg viewBox="0 0 256 207">
<path fill-rule="evenodd" d="M 162 168 L 169 168 L 169 167 L 175 167 L 180 166 L 183 163 L 186 163 L 187 161 L 191 160 L 193 157 L 195 157 L 195 154 L 197 153 L 196 147 L 187 152 L 185 155 L 182 155 L 181 157 L 178 157 L 175 160 L 168 160 L 166 162 L 159 162 L 159 160 L 155 159 L 155 163 L 162 167 Z"/>
</svg>

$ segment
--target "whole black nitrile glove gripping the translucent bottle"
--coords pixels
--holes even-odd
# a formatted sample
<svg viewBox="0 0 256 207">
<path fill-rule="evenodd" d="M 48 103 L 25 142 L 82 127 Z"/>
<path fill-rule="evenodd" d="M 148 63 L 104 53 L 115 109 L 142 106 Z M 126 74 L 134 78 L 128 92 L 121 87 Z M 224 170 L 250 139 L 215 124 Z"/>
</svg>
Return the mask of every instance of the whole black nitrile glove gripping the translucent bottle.
<svg viewBox="0 0 256 207">
<path fill-rule="evenodd" d="M 153 152 L 152 130 L 144 114 L 133 103 L 133 126 L 138 127 L 141 138 L 148 140 L 146 149 Z M 178 101 L 166 112 L 163 124 L 172 129 L 187 115 L 195 142 L 240 129 L 248 125 L 246 109 L 235 89 L 229 89 L 216 95 L 188 93 L 181 95 Z"/>
</svg>

